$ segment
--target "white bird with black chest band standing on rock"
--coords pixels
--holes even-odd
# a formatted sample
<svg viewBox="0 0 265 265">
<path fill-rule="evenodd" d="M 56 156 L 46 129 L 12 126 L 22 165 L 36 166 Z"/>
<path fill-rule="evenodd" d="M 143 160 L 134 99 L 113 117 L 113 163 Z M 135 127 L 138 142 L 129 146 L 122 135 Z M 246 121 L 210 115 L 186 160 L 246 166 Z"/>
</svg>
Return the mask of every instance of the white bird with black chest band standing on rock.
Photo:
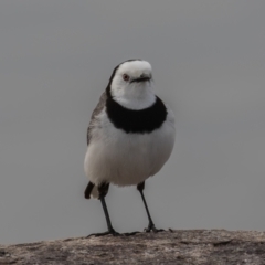
<svg viewBox="0 0 265 265">
<path fill-rule="evenodd" d="M 100 200 L 108 227 L 95 235 L 119 235 L 105 201 L 109 184 L 136 186 L 149 221 L 145 231 L 160 231 L 146 203 L 145 181 L 169 159 L 174 136 L 174 114 L 155 94 L 150 63 L 132 59 L 118 64 L 87 128 L 84 171 L 89 181 L 84 195 Z"/>
</svg>

